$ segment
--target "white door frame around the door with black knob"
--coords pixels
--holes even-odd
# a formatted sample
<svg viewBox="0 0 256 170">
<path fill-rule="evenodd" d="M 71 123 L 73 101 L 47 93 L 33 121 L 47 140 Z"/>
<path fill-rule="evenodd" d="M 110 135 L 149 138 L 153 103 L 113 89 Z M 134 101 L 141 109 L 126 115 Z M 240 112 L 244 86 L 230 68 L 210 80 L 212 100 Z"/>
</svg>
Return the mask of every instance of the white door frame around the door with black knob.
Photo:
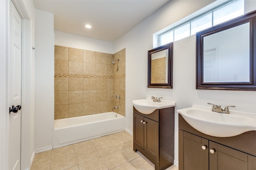
<svg viewBox="0 0 256 170">
<path fill-rule="evenodd" d="M 22 18 L 22 112 L 21 169 L 29 169 L 34 158 L 34 52 L 33 26 L 23 0 L 12 0 Z M 10 104 L 10 8 L 11 0 L 0 0 L 0 169 L 9 169 Z M 25 57 L 26 56 L 26 57 Z M 31 154 L 32 152 L 32 154 Z"/>
</svg>

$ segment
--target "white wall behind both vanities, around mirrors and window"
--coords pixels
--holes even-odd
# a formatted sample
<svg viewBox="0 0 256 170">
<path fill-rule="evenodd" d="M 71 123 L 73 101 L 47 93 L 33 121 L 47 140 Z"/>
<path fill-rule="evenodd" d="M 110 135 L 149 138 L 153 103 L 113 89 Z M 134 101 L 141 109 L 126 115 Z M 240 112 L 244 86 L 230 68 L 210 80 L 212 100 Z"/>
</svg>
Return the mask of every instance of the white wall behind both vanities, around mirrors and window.
<svg viewBox="0 0 256 170">
<path fill-rule="evenodd" d="M 193 104 L 235 105 L 235 110 L 256 113 L 256 92 L 232 90 L 196 90 L 195 35 L 174 42 L 173 89 L 149 88 L 147 51 L 152 49 L 152 35 L 203 8 L 212 1 L 170 1 L 114 43 L 114 51 L 126 48 L 126 128 L 132 131 L 132 100 L 151 96 L 176 102 L 176 109 Z M 250 1 L 250 7 L 253 1 Z M 254 10 L 255 8 L 254 3 Z M 247 11 L 248 12 L 248 11 Z M 178 163 L 178 120 L 176 113 L 175 162 Z"/>
</svg>

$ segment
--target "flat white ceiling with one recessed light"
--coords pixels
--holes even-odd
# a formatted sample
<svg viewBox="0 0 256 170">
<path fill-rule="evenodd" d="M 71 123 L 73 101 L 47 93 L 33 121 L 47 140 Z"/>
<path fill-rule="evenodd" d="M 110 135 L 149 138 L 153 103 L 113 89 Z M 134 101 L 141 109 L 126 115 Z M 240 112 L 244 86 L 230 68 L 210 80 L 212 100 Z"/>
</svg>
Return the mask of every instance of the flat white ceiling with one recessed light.
<svg viewBox="0 0 256 170">
<path fill-rule="evenodd" d="M 36 9 L 54 14 L 54 30 L 114 42 L 169 0 L 33 1 Z"/>
</svg>

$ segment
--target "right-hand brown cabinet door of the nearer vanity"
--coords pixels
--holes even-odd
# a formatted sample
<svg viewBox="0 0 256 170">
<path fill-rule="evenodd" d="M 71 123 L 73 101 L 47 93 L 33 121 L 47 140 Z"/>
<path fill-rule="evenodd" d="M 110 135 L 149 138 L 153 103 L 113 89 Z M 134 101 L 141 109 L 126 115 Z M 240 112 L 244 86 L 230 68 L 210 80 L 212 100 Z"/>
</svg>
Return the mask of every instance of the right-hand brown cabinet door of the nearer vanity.
<svg viewBox="0 0 256 170">
<path fill-rule="evenodd" d="M 212 141 L 209 141 L 209 151 L 210 170 L 247 170 L 249 167 L 248 156 L 250 155 L 244 152 Z"/>
</svg>

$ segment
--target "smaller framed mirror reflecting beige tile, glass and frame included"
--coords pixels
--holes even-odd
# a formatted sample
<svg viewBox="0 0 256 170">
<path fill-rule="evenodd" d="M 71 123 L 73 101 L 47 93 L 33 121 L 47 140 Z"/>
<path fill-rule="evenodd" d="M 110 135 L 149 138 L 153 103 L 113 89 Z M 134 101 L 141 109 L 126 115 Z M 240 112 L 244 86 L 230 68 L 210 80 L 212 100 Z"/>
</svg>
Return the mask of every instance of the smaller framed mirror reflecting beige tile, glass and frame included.
<svg viewBox="0 0 256 170">
<path fill-rule="evenodd" d="M 173 42 L 148 51 L 148 87 L 172 88 Z"/>
</svg>

